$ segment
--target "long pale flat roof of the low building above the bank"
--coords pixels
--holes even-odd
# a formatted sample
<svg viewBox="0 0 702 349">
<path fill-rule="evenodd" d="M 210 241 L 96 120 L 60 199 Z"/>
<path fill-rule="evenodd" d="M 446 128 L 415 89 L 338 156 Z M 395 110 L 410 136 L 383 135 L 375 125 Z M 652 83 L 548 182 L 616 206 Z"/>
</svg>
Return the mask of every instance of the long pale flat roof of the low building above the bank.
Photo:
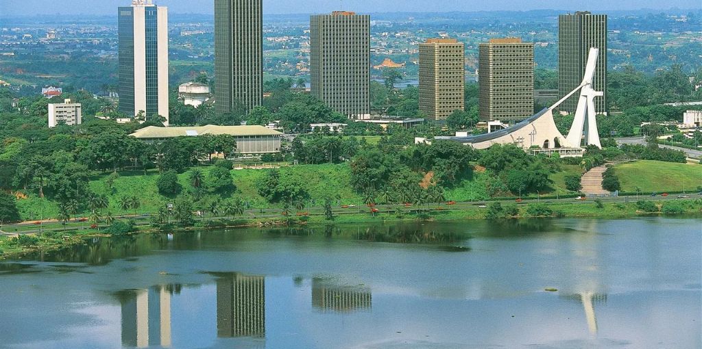
<svg viewBox="0 0 702 349">
<path fill-rule="evenodd" d="M 259 125 L 247 126 L 185 126 L 159 128 L 157 126 L 149 126 L 142 128 L 132 133 L 131 136 L 139 139 L 152 138 L 174 138 L 184 136 L 202 136 L 202 135 L 232 135 L 232 136 L 275 136 L 282 135 L 281 132 L 271 130 Z"/>
</svg>

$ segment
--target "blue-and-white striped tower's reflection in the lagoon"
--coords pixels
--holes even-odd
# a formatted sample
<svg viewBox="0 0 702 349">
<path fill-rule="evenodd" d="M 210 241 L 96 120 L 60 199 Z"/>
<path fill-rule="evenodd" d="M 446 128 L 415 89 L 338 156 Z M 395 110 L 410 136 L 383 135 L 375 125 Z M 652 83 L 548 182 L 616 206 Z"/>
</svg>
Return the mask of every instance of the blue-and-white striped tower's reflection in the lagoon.
<svg viewBox="0 0 702 349">
<path fill-rule="evenodd" d="M 180 285 L 126 289 L 117 293 L 121 303 L 121 339 L 127 347 L 171 346 L 171 296 Z"/>
</svg>

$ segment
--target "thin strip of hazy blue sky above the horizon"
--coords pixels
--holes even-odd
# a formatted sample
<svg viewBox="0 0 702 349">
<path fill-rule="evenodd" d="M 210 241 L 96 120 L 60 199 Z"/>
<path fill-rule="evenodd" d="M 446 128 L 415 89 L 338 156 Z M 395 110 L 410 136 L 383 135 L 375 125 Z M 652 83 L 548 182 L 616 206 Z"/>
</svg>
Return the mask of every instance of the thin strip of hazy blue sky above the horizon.
<svg viewBox="0 0 702 349">
<path fill-rule="evenodd" d="M 154 0 L 171 13 L 212 13 L 214 0 Z M 0 0 L 0 15 L 99 14 L 112 15 L 130 0 Z M 263 0 L 264 13 L 326 13 L 344 9 L 357 12 L 448 12 L 557 10 L 638 10 L 641 8 L 700 8 L 700 0 Z"/>
</svg>

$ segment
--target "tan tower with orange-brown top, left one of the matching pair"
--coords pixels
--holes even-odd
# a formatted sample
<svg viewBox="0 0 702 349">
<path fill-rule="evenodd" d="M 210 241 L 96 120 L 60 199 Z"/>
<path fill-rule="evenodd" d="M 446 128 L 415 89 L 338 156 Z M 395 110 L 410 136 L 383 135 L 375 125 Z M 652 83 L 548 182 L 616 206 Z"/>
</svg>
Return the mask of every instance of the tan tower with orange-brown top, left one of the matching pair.
<svg viewBox="0 0 702 349">
<path fill-rule="evenodd" d="M 465 49 L 456 39 L 428 39 L 419 44 L 419 110 L 446 120 L 465 109 Z"/>
</svg>

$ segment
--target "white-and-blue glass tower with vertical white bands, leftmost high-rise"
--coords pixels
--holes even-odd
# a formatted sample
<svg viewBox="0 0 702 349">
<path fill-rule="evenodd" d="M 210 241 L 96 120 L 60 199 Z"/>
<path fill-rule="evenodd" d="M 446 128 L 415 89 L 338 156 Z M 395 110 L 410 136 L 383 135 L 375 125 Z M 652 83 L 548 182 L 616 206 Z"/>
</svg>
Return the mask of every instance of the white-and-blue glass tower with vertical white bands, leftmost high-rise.
<svg viewBox="0 0 702 349">
<path fill-rule="evenodd" d="M 118 9 L 119 111 L 168 125 L 168 8 L 133 0 Z"/>
</svg>

